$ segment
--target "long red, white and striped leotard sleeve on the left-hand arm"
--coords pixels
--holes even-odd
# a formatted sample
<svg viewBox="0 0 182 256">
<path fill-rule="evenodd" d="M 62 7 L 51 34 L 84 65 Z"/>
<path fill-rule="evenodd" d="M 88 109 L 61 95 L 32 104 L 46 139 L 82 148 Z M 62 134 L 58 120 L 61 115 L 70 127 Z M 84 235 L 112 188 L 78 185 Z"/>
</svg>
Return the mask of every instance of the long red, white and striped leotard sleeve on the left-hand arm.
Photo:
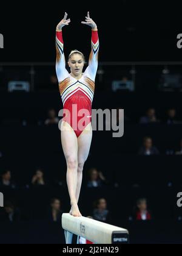
<svg viewBox="0 0 182 256">
<path fill-rule="evenodd" d="M 63 39 L 62 31 L 56 31 L 56 74 L 58 77 L 58 82 L 66 79 L 69 73 L 66 69 L 66 62 L 63 51 Z"/>
</svg>

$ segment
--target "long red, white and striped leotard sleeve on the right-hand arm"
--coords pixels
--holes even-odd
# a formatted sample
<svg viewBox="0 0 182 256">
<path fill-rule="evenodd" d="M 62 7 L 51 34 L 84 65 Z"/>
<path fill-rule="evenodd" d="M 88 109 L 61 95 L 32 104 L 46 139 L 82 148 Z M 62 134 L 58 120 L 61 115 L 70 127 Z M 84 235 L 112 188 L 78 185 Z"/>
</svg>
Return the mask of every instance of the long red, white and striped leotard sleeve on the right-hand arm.
<svg viewBox="0 0 182 256">
<path fill-rule="evenodd" d="M 93 81 L 95 81 L 96 71 L 98 68 L 98 51 L 99 51 L 98 31 L 92 30 L 89 66 L 87 66 L 84 74 Z"/>
</svg>

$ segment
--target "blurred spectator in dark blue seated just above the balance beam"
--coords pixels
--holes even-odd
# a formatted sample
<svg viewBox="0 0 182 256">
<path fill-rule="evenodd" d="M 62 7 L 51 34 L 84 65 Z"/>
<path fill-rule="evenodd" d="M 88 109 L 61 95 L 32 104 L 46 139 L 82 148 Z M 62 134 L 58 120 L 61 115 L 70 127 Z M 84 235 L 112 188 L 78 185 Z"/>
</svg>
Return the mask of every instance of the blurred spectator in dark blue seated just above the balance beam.
<svg viewBox="0 0 182 256">
<path fill-rule="evenodd" d="M 94 206 L 93 218 L 96 219 L 96 221 L 109 222 L 109 210 L 107 210 L 106 199 L 99 198 Z"/>
</svg>

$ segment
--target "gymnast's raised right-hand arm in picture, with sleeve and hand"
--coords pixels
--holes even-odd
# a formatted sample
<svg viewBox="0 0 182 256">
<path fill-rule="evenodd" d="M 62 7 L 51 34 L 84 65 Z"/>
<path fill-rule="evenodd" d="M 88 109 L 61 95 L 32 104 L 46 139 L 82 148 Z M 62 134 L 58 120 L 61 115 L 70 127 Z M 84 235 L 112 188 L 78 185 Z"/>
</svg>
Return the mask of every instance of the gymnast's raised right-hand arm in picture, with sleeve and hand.
<svg viewBox="0 0 182 256">
<path fill-rule="evenodd" d="M 89 12 L 87 12 L 86 21 L 82 21 L 81 23 L 92 27 L 89 66 L 87 66 L 84 74 L 87 77 L 89 77 L 91 80 L 95 81 L 96 71 L 98 68 L 98 50 L 99 50 L 98 29 L 97 29 L 96 23 L 90 18 Z"/>
</svg>

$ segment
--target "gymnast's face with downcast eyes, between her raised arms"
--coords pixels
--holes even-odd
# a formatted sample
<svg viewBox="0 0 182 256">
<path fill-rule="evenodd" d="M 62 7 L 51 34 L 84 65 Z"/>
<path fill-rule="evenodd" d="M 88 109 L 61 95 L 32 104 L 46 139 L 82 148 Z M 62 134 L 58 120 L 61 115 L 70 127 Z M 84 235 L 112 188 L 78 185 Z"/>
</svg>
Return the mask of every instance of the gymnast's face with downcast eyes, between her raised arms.
<svg viewBox="0 0 182 256">
<path fill-rule="evenodd" d="M 68 65 L 70 67 L 70 71 L 74 76 L 80 76 L 83 72 L 84 67 L 84 59 L 81 54 L 72 54 L 70 56 Z"/>
</svg>

